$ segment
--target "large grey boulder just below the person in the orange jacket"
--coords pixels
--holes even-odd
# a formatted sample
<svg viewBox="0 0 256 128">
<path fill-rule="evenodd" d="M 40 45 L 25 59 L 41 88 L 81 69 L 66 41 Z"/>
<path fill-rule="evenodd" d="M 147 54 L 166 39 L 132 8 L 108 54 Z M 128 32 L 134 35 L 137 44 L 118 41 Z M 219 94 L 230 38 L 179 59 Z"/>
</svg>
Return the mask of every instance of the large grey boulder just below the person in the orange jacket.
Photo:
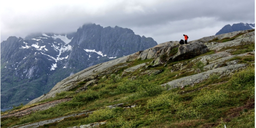
<svg viewBox="0 0 256 128">
<path fill-rule="evenodd" d="M 207 53 L 209 49 L 201 41 L 196 41 L 190 44 L 180 45 L 178 52 L 172 57 L 173 61 L 194 58 L 198 55 Z"/>
</svg>

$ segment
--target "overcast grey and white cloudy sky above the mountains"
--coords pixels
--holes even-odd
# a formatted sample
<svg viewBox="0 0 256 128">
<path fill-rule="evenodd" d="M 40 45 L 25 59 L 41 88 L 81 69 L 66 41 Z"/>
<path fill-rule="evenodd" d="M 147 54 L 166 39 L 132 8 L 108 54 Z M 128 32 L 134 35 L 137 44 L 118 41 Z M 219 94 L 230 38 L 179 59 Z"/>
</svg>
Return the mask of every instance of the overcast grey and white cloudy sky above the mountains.
<svg viewBox="0 0 256 128">
<path fill-rule="evenodd" d="M 0 0 L 1 42 L 30 33 L 70 33 L 85 23 L 119 26 L 157 43 L 215 35 L 255 23 L 255 0 Z"/>
</svg>

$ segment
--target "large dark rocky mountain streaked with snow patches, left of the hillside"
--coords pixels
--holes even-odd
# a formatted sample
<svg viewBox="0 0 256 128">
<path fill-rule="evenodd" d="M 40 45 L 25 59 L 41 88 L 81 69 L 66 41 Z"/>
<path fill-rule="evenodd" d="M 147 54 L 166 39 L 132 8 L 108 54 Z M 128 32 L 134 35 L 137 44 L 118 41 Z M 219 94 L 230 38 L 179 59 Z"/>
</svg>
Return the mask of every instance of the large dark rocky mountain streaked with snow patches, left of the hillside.
<svg viewBox="0 0 256 128">
<path fill-rule="evenodd" d="M 127 28 L 85 24 L 75 33 L 35 33 L 1 42 L 1 108 L 26 104 L 85 68 L 157 45 Z"/>
</svg>

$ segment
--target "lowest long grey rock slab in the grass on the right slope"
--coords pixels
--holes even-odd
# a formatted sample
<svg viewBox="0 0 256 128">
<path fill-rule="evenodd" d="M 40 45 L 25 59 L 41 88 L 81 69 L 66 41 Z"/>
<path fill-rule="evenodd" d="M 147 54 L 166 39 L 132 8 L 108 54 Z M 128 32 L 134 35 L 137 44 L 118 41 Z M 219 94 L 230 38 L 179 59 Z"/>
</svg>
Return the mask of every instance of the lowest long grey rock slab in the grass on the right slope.
<svg viewBox="0 0 256 128">
<path fill-rule="evenodd" d="M 196 75 L 192 76 L 186 76 L 180 79 L 176 79 L 173 81 L 170 81 L 166 84 L 162 84 L 161 86 L 166 86 L 169 85 L 171 86 L 170 89 L 172 88 L 183 88 L 186 85 L 194 85 L 195 83 L 199 83 L 207 78 L 209 78 L 210 75 L 212 74 L 220 74 L 221 76 L 225 75 L 231 75 L 235 71 L 238 71 L 239 69 L 246 68 L 245 64 L 237 64 L 237 65 L 231 65 L 231 66 L 226 66 L 226 67 L 221 67 L 213 70 L 209 70 L 207 72 L 202 72 Z M 169 89 L 169 90 L 170 90 Z"/>
</svg>

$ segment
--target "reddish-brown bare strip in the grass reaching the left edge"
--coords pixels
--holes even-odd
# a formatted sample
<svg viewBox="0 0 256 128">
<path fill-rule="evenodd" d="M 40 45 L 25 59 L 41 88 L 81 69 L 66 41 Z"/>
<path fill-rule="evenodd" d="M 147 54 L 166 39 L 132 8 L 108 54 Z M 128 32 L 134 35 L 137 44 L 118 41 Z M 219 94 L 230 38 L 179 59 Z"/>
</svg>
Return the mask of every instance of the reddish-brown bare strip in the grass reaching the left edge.
<svg viewBox="0 0 256 128">
<path fill-rule="evenodd" d="M 40 105 L 37 105 L 37 106 L 33 106 L 31 108 L 27 108 L 27 109 L 24 109 L 24 110 L 21 110 L 21 111 L 17 111 L 17 112 L 13 112 L 13 113 L 8 113 L 8 114 L 5 114 L 5 115 L 1 115 L 1 119 L 2 118 L 8 118 L 10 116 L 16 116 L 16 117 L 22 117 L 22 116 L 25 116 L 27 114 L 30 114 L 31 112 L 34 112 L 34 111 L 39 111 L 39 110 L 46 110 L 50 107 L 54 107 L 55 105 L 61 103 L 61 102 L 67 102 L 67 101 L 70 101 L 72 98 L 66 98 L 66 99 L 59 99 L 59 100 L 54 100 L 52 102 L 47 102 L 47 103 L 44 103 L 44 104 L 40 104 Z"/>
</svg>

